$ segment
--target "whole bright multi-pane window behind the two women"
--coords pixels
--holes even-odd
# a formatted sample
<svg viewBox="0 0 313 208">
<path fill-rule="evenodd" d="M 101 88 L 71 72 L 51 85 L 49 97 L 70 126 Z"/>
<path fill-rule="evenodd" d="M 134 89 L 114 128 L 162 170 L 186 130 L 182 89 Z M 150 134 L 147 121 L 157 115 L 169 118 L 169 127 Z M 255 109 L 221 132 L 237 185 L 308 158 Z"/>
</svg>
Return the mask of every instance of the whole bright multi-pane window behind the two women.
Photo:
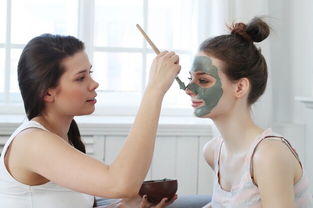
<svg viewBox="0 0 313 208">
<path fill-rule="evenodd" d="M 96 108 L 136 109 L 155 57 L 136 23 L 160 51 L 179 54 L 178 76 L 187 83 L 197 35 L 193 7 L 190 0 L 2 0 L 0 26 L 8 31 L 0 34 L 0 103 L 22 104 L 16 67 L 24 45 L 39 34 L 57 33 L 85 42 L 99 82 Z M 163 100 L 163 108 L 171 107 L 190 108 L 176 81 Z"/>
</svg>

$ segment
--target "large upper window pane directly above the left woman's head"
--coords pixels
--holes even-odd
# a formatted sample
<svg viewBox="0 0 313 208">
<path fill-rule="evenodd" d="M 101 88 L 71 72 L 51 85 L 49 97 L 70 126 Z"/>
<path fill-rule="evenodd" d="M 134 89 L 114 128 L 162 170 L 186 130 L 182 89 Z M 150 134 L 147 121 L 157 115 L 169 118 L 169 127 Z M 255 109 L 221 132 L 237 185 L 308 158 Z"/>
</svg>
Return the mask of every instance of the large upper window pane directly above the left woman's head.
<svg viewBox="0 0 313 208">
<path fill-rule="evenodd" d="M 77 36 L 78 0 L 12 0 L 12 43 L 42 33 Z M 21 35 L 22 34 L 22 35 Z"/>
</svg>

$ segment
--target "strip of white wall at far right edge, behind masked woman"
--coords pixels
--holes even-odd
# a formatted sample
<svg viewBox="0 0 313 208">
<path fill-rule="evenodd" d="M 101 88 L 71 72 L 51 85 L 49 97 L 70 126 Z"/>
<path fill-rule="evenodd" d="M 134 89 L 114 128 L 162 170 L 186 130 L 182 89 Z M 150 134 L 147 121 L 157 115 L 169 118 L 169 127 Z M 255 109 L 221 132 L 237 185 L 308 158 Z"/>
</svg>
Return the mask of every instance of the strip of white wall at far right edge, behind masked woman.
<svg viewBox="0 0 313 208">
<path fill-rule="evenodd" d="M 290 63 L 291 79 L 291 121 L 305 124 L 305 168 L 313 192 L 313 109 L 306 108 L 303 103 L 292 100 L 295 96 L 312 97 L 313 91 L 313 1 L 290 0 L 291 25 Z M 288 88 L 287 88 L 288 89 Z M 287 110 L 287 109 L 286 109 Z"/>
</svg>

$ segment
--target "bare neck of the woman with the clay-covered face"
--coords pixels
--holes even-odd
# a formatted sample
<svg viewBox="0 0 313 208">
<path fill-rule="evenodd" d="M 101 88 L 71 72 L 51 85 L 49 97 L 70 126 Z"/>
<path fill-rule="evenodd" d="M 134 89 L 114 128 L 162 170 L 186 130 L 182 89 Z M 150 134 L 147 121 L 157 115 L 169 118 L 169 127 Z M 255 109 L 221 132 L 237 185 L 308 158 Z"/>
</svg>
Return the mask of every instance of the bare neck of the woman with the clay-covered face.
<svg viewBox="0 0 313 208">
<path fill-rule="evenodd" d="M 233 110 L 212 120 L 229 154 L 246 152 L 255 138 L 264 131 L 254 123 L 249 107 Z"/>
</svg>

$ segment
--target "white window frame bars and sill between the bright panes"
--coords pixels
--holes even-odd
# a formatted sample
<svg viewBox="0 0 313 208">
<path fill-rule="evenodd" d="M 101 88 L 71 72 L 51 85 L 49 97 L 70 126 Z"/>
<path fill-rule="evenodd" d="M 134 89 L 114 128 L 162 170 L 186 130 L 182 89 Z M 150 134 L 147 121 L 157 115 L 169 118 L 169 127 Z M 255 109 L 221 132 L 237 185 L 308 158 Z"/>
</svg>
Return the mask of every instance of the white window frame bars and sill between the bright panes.
<svg viewBox="0 0 313 208">
<path fill-rule="evenodd" d="M 148 0 L 143 1 L 143 25 L 141 27 L 146 31 L 147 28 L 147 15 L 148 15 Z M 201 0 L 202 1 L 202 0 Z M 12 104 L 10 103 L 10 93 L 9 93 L 9 73 L 10 73 L 10 50 L 12 48 L 23 48 L 24 44 L 12 44 L 10 43 L 11 37 L 11 0 L 6 1 L 6 43 L 4 44 L 5 48 L 5 86 L 4 86 L 4 103 L 0 103 L 0 114 L 24 114 L 24 108 L 22 103 Z M 196 5 L 198 7 L 198 4 Z M 199 9 L 200 10 L 200 9 Z M 78 38 L 85 42 L 86 52 L 89 56 L 89 59 L 92 62 L 93 51 L 101 52 L 140 52 L 142 54 L 142 70 L 141 70 L 141 89 L 140 97 L 143 94 L 146 77 L 146 55 L 147 53 L 154 53 L 151 48 L 148 47 L 148 44 L 144 38 L 142 38 L 143 46 L 142 48 L 120 48 L 120 47 L 94 47 L 93 45 L 93 22 L 94 22 L 94 0 L 79 0 L 79 9 L 78 9 Z M 198 14 L 200 16 L 200 14 Z M 196 21 L 201 20 L 197 17 Z M 201 35 L 197 35 L 200 37 Z M 197 40 L 195 41 L 197 42 Z M 0 46 L 3 46 L 1 44 Z M 159 48 L 160 50 L 165 50 Z M 190 54 L 191 51 L 187 50 L 175 50 L 177 54 Z M 192 51 L 194 52 L 194 51 Z M 182 92 L 183 93 L 183 92 Z M 98 92 L 99 96 L 105 96 L 105 93 Z M 99 97 L 98 96 L 98 97 Z M 138 105 L 130 106 L 104 106 L 97 105 L 96 110 L 93 115 L 135 115 L 137 112 Z M 163 107 L 161 110 L 161 115 L 164 116 L 190 116 L 192 115 L 192 109 L 190 108 L 176 108 L 176 107 Z"/>
</svg>

